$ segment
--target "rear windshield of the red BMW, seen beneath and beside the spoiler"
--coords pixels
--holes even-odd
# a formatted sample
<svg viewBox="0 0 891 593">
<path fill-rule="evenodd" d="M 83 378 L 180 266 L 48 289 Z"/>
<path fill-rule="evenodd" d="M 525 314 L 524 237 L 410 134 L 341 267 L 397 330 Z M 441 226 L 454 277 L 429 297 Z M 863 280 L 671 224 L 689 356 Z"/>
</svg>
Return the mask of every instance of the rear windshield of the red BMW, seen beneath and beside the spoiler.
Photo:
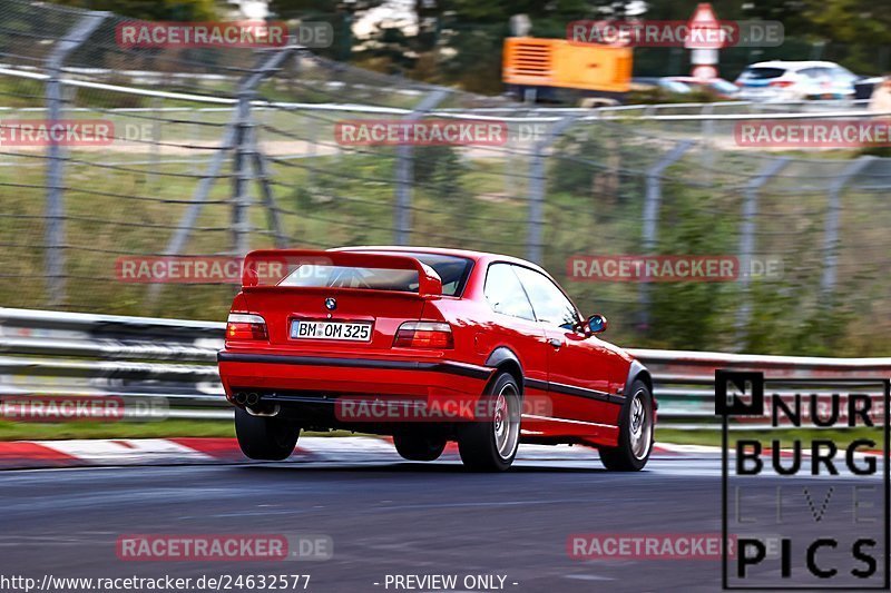
<svg viewBox="0 0 891 593">
<path fill-rule="evenodd" d="M 378 251 L 381 253 L 381 251 Z M 470 259 L 454 256 L 392 251 L 420 260 L 442 279 L 442 294 L 460 296 L 470 274 Z M 386 255 L 386 254 L 385 254 Z M 408 269 L 364 268 L 304 264 L 292 270 L 278 286 L 370 288 L 374 290 L 418 291 L 418 273 Z"/>
</svg>

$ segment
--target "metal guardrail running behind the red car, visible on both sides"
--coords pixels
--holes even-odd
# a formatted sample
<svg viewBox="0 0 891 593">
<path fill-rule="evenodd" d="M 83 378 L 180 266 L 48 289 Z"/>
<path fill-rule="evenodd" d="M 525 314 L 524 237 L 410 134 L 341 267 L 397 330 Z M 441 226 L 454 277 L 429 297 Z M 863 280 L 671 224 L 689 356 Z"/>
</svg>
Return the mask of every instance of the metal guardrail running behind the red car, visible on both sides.
<svg viewBox="0 0 891 593">
<path fill-rule="evenodd" d="M 0 396 L 164 398 L 168 417 L 229 418 L 216 369 L 225 324 L 0 307 Z M 630 348 L 649 368 L 663 426 L 714 427 L 717 368 L 771 378 L 891 377 L 891 358 Z M 828 386 L 825 393 L 832 393 Z"/>
</svg>

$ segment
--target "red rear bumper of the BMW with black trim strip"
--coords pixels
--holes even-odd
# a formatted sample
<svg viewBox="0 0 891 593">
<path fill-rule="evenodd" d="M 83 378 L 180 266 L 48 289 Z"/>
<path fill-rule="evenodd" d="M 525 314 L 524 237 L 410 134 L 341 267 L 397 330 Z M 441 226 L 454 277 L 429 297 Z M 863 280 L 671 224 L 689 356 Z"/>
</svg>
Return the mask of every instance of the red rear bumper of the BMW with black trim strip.
<svg viewBox="0 0 891 593">
<path fill-rule="evenodd" d="M 434 422 L 448 402 L 452 419 L 473 419 L 473 404 L 482 396 L 495 368 L 443 359 L 384 359 L 223 350 L 217 356 L 226 398 L 258 394 L 261 403 L 284 412 L 312 413 L 320 423 Z M 381 415 L 363 404 L 411 403 L 428 406 L 396 408 Z M 349 403 L 349 405 L 347 405 Z M 356 404 L 358 403 L 358 404 Z M 236 404 L 237 405 L 237 404 Z M 429 409 L 432 406 L 434 413 Z M 468 416 L 469 417 L 464 417 Z M 346 417 L 344 417 L 346 415 Z M 450 416 L 449 416 L 450 417 Z"/>
</svg>

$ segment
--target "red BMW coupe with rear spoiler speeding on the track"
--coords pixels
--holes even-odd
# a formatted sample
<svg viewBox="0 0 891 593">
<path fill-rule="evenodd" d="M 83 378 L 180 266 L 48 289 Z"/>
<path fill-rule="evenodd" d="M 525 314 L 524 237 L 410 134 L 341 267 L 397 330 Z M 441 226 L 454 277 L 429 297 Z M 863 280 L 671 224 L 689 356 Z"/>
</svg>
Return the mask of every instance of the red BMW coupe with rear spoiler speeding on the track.
<svg viewBox="0 0 891 593">
<path fill-rule="evenodd" d="M 284 459 L 301 429 L 392 435 L 412 461 L 457 441 L 505 471 L 522 443 L 599 449 L 636 471 L 653 448 L 649 373 L 596 334 L 544 269 L 420 247 L 253 251 L 219 353 L 242 451 Z"/>
</svg>

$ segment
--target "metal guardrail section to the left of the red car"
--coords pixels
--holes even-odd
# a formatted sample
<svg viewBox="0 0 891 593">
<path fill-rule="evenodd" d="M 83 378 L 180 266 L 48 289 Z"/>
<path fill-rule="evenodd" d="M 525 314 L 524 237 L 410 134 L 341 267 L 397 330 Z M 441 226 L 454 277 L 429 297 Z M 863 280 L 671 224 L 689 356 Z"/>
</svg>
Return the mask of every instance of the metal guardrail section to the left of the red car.
<svg viewBox="0 0 891 593">
<path fill-rule="evenodd" d="M 216 370 L 223 330 L 219 323 L 0 307 L 0 396 L 115 396 L 125 409 L 163 399 L 167 417 L 229 418 Z"/>
</svg>

